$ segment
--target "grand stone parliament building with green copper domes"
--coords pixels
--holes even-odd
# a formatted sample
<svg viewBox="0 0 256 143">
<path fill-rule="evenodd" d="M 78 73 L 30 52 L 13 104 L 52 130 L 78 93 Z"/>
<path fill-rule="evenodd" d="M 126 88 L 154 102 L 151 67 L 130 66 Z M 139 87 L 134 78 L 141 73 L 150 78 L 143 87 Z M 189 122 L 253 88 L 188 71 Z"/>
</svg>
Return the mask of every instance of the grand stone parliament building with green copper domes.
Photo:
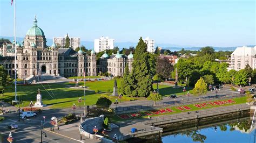
<svg viewBox="0 0 256 143">
<path fill-rule="evenodd" d="M 17 78 L 25 79 L 33 76 L 60 75 L 71 76 L 97 76 L 97 73 L 108 72 L 113 76 L 123 76 L 125 64 L 131 70 L 133 58 L 122 54 L 113 54 L 110 57 L 100 58 L 97 65 L 96 53 L 90 54 L 81 50 L 76 52 L 72 48 L 57 48 L 56 44 L 46 46 L 44 32 L 37 26 L 37 19 L 25 35 L 21 44 L 16 43 Z M 117 56 L 116 56 L 117 55 Z M 3 42 L 0 47 L 0 65 L 3 65 L 8 74 L 15 75 L 15 44 Z M 132 56 L 133 57 L 133 56 Z"/>
</svg>

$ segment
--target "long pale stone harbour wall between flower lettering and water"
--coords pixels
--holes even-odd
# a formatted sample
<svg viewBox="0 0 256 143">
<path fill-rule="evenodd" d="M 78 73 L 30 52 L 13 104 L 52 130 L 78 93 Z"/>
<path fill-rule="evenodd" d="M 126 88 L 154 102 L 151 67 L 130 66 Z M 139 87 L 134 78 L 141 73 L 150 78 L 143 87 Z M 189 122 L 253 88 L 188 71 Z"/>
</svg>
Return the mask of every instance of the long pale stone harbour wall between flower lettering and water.
<svg viewBox="0 0 256 143">
<path fill-rule="evenodd" d="M 250 110 L 250 106 L 247 104 L 241 104 L 241 105 L 212 108 L 207 110 L 188 111 L 188 112 L 183 112 L 176 115 L 169 115 L 161 118 L 150 119 L 148 121 L 143 121 L 142 123 L 157 124 L 157 123 L 163 123 L 165 121 L 167 121 L 168 123 L 174 123 L 177 121 L 197 119 L 197 118 L 203 118 L 203 117 L 209 117 L 209 116 L 215 116 L 215 115 L 223 115 L 226 113 L 232 113 L 232 112 L 238 112 L 238 111 L 244 111 L 244 110 Z"/>
</svg>

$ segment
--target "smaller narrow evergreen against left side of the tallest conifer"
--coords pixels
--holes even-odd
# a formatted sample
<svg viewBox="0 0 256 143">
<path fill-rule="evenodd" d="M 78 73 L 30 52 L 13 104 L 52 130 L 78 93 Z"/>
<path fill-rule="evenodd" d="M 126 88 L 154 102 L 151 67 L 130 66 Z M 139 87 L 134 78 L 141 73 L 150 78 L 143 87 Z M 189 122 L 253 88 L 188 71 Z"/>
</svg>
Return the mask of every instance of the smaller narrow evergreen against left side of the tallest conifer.
<svg viewBox="0 0 256 143">
<path fill-rule="evenodd" d="M 121 86 L 119 88 L 119 92 L 121 94 L 128 95 L 128 96 L 130 96 L 129 94 L 131 94 L 131 92 L 128 91 L 129 89 L 131 89 L 130 85 L 129 85 L 129 75 L 130 75 L 130 70 L 129 70 L 128 64 L 126 64 L 125 69 L 124 69 L 124 77 L 121 81 Z M 127 93 L 126 93 L 126 88 L 127 88 Z"/>
</svg>

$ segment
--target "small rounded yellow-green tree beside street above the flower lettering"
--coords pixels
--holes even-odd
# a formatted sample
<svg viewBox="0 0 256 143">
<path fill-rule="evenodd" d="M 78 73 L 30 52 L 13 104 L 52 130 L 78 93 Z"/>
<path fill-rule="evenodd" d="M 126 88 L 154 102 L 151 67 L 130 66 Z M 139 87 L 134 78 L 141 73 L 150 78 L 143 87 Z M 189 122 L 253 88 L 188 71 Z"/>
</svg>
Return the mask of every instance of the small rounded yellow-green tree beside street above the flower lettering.
<svg viewBox="0 0 256 143">
<path fill-rule="evenodd" d="M 206 94 L 207 92 L 207 84 L 205 83 L 204 78 L 200 77 L 200 79 L 197 81 L 196 85 L 194 85 L 193 94 L 195 96 L 199 96 Z"/>
</svg>

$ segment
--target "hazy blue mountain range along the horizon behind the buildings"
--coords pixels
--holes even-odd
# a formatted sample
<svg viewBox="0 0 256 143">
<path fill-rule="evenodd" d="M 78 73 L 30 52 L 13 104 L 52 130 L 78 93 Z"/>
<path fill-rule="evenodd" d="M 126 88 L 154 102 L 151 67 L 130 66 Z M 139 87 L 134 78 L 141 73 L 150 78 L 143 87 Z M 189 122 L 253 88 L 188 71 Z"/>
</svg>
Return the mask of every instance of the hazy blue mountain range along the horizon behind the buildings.
<svg viewBox="0 0 256 143">
<path fill-rule="evenodd" d="M 0 36 L 0 38 L 4 39 L 10 39 L 10 41 L 14 40 L 14 37 L 5 37 Z M 18 42 L 21 42 L 24 40 L 24 38 L 16 37 Z M 47 45 L 52 45 L 52 39 L 47 39 Z M 80 41 L 80 45 L 84 45 L 88 49 L 92 49 L 94 47 L 94 41 Z M 118 46 L 121 50 L 122 48 L 129 48 L 130 46 L 136 47 L 137 42 L 114 42 L 114 46 Z M 180 51 L 182 48 L 185 50 L 191 50 L 191 51 L 198 51 L 201 47 L 193 47 L 193 46 L 181 46 L 181 45 L 174 45 L 174 44 L 155 44 L 156 46 L 162 47 L 163 49 L 170 49 L 170 51 Z M 248 45 L 247 47 L 254 47 L 255 45 Z M 235 47 L 213 47 L 215 51 L 234 51 L 235 48 L 241 47 L 241 46 L 235 46 Z"/>
</svg>

